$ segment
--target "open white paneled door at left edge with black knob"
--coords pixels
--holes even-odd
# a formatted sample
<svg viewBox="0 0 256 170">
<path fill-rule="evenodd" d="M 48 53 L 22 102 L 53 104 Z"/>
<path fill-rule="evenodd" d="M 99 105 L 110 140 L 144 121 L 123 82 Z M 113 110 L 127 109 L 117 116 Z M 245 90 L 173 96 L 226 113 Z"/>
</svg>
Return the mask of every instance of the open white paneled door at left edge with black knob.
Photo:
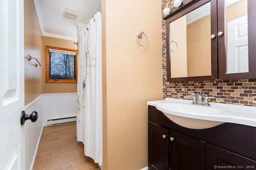
<svg viewBox="0 0 256 170">
<path fill-rule="evenodd" d="M 24 3 L 0 0 L 0 169 L 23 170 Z"/>
</svg>

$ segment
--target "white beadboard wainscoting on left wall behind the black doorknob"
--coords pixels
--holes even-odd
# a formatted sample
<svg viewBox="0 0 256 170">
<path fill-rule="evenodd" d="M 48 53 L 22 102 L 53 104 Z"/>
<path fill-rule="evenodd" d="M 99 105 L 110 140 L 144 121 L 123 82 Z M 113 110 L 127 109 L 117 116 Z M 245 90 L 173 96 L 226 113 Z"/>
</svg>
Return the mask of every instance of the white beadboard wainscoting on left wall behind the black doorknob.
<svg viewBox="0 0 256 170">
<path fill-rule="evenodd" d="M 34 162 L 36 160 L 36 153 L 39 147 L 41 134 L 43 130 L 43 117 L 44 117 L 44 111 L 43 111 L 43 95 L 39 96 L 28 104 L 25 107 L 25 112 L 27 115 L 30 115 L 32 111 L 37 111 L 38 113 L 38 119 L 36 122 L 32 122 L 30 120 L 27 120 L 23 127 L 25 128 L 25 136 L 24 136 L 24 142 L 25 142 L 25 156 L 26 156 L 26 162 L 25 167 L 26 170 L 32 170 Z"/>
</svg>

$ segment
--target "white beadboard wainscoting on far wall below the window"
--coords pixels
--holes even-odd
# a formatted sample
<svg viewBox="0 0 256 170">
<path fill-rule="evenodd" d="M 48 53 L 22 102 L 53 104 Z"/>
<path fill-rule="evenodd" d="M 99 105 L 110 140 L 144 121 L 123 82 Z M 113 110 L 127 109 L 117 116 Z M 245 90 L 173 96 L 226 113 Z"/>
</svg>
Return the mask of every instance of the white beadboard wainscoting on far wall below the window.
<svg viewBox="0 0 256 170">
<path fill-rule="evenodd" d="M 44 94 L 44 126 L 48 120 L 76 117 L 77 93 Z"/>
</svg>

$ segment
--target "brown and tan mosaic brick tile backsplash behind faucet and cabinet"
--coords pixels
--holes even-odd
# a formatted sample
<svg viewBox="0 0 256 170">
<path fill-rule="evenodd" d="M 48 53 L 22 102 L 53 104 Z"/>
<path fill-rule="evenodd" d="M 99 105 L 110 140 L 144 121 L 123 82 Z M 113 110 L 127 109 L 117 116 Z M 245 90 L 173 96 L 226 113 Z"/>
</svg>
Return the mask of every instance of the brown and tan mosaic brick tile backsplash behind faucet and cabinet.
<svg viewBox="0 0 256 170">
<path fill-rule="evenodd" d="M 172 8 L 172 0 L 162 0 L 162 11 L 166 6 Z M 162 18 L 164 14 L 162 13 Z M 256 106 L 256 79 L 216 80 L 216 81 L 185 81 L 168 82 L 166 76 L 166 26 L 162 20 L 162 74 L 163 99 L 180 98 L 193 100 L 188 97 L 193 92 L 202 92 L 203 97 L 211 98 L 210 102 Z"/>
</svg>

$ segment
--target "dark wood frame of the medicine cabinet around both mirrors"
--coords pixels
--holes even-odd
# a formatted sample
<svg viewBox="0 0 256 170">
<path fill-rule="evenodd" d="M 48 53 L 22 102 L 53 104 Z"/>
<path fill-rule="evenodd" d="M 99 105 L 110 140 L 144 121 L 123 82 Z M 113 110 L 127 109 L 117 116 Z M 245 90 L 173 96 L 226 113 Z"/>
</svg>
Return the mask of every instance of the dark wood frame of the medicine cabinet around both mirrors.
<svg viewBox="0 0 256 170">
<path fill-rule="evenodd" d="M 216 35 L 211 39 L 211 61 L 212 75 L 171 78 L 170 63 L 170 22 L 188 14 L 192 10 L 211 1 L 211 34 Z M 217 8 L 218 6 L 218 8 Z M 248 0 L 248 61 L 249 72 L 226 74 L 226 42 L 225 42 L 225 19 L 224 0 L 184 0 L 180 8 L 172 8 L 171 13 L 164 17 L 166 20 L 166 67 L 167 81 L 194 81 L 194 80 L 231 80 L 256 78 L 256 8 L 255 0 Z M 217 36 L 218 31 L 222 31 L 222 36 Z M 210 35 L 209 35 L 210 36 Z M 220 48 L 223 47 L 223 48 Z"/>
</svg>

